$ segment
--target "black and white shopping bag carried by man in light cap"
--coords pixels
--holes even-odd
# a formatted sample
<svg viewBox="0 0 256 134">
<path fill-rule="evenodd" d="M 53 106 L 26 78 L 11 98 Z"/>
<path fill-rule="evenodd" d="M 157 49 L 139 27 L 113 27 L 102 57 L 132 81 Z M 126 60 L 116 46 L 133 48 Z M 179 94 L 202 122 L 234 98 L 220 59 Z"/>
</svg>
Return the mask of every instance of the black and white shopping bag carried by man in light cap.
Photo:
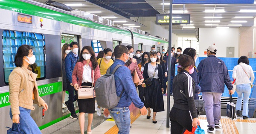
<svg viewBox="0 0 256 134">
<path fill-rule="evenodd" d="M 229 101 L 227 102 L 227 111 L 226 111 L 226 117 L 228 117 L 231 120 L 236 120 L 236 105 L 234 104 L 232 95 L 230 94 Z"/>
</svg>

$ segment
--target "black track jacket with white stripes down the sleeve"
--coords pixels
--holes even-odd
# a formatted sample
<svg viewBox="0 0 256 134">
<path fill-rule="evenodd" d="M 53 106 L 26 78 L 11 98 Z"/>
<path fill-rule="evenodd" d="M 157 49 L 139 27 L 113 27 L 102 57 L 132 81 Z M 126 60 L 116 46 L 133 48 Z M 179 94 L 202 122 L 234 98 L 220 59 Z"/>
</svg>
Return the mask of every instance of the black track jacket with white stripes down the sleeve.
<svg viewBox="0 0 256 134">
<path fill-rule="evenodd" d="M 189 72 L 179 72 L 173 79 L 172 88 L 174 100 L 173 107 L 180 110 L 190 111 L 193 119 L 198 117 L 194 101 L 195 81 L 189 75 Z M 186 97 L 180 91 L 182 91 Z"/>
</svg>

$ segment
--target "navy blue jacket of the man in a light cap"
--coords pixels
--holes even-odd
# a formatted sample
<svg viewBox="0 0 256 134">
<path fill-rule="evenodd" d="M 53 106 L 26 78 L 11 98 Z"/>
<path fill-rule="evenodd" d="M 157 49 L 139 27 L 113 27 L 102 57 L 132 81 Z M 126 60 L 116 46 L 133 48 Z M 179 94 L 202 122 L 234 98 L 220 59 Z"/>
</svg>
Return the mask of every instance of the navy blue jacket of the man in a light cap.
<svg viewBox="0 0 256 134">
<path fill-rule="evenodd" d="M 201 92 L 223 93 L 224 84 L 226 84 L 228 90 L 233 89 L 227 66 L 215 55 L 209 55 L 201 60 L 197 69 Z"/>
</svg>

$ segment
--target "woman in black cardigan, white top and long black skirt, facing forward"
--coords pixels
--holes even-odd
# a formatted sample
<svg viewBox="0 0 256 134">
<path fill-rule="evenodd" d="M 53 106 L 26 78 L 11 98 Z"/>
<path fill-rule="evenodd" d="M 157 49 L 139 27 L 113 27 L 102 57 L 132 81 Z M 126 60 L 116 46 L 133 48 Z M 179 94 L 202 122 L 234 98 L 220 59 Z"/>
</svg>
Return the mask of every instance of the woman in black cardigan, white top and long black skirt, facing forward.
<svg viewBox="0 0 256 134">
<path fill-rule="evenodd" d="M 157 57 L 157 52 L 150 53 L 150 59 L 148 63 L 144 66 L 143 77 L 147 80 L 149 77 L 153 77 L 151 85 L 146 85 L 145 82 L 142 83 L 142 87 L 145 88 L 145 107 L 148 110 L 147 119 L 151 117 L 151 110 L 153 109 L 153 123 L 157 123 L 156 115 L 157 112 L 164 111 L 163 106 L 163 68 L 160 64 L 157 64 L 159 59 Z"/>
</svg>

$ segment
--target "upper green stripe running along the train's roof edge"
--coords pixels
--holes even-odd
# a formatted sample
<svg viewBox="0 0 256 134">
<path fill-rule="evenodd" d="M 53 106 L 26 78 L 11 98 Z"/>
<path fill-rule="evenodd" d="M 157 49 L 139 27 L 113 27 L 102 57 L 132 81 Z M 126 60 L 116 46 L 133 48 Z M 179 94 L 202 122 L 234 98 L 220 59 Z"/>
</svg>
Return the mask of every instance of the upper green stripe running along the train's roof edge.
<svg viewBox="0 0 256 134">
<path fill-rule="evenodd" d="M 64 14 L 59 11 L 45 9 L 43 7 L 35 6 L 35 5 L 25 3 L 25 2 L 22 2 L 19 0 L 0 0 L 0 1 L 1 1 L 0 9 L 16 11 L 16 12 L 23 13 L 23 14 L 30 14 L 33 16 L 47 18 L 50 20 L 56 20 L 56 21 L 60 21 L 60 22 L 75 24 L 75 25 L 79 25 L 79 26 L 92 28 L 92 29 L 109 31 L 112 33 L 122 34 L 122 35 L 131 37 L 131 33 L 129 31 L 116 29 L 111 26 L 106 26 L 103 24 L 95 23 L 91 20 L 86 20 L 86 19 L 83 19 L 80 17 L 72 16 L 69 14 Z M 161 43 L 168 43 L 168 42 L 158 39 L 158 38 L 149 37 L 149 36 L 140 35 L 140 34 L 135 34 L 134 37 L 139 37 L 139 38 L 148 39 L 148 40 L 154 40 L 154 41 L 161 42 Z"/>
</svg>

